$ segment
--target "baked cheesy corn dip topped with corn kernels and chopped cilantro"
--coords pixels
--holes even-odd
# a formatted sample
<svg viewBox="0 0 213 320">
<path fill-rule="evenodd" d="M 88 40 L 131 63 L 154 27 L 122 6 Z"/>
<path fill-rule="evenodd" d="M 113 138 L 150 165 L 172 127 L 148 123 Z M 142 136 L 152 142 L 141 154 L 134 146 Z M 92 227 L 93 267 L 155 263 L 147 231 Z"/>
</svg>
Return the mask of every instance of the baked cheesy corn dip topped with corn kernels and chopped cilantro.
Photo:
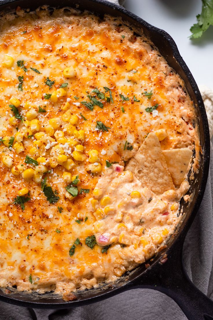
<svg viewBox="0 0 213 320">
<path fill-rule="evenodd" d="M 119 18 L 17 8 L 1 30 L 0 286 L 113 281 L 182 219 L 200 150 L 185 84 Z"/>
</svg>

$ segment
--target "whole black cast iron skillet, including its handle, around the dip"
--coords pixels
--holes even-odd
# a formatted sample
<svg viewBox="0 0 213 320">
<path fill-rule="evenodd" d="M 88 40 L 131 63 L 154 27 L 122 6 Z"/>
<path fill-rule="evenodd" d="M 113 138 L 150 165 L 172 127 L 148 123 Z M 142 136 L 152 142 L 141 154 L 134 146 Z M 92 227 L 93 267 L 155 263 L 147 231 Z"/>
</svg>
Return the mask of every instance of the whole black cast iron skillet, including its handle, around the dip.
<svg viewBox="0 0 213 320">
<path fill-rule="evenodd" d="M 103 285 L 98 289 L 77 292 L 77 300 L 65 302 L 57 298 L 54 293 L 44 295 L 16 293 L 6 294 L 0 290 L 0 300 L 19 306 L 30 308 L 74 308 L 99 300 L 109 298 L 115 294 L 133 288 L 149 288 L 158 290 L 170 296 L 177 302 L 185 315 L 190 320 L 213 319 L 213 302 L 209 300 L 190 281 L 183 267 L 182 247 L 186 233 L 191 226 L 196 212 L 202 201 L 209 171 L 210 139 L 209 127 L 201 94 L 194 78 L 181 58 L 174 40 L 165 31 L 151 26 L 146 21 L 137 17 L 118 5 L 105 0 L 37 0 L 29 4 L 28 0 L 3 0 L 0 11 L 10 11 L 18 5 L 21 8 L 36 9 L 38 6 L 48 4 L 51 7 L 70 6 L 80 10 L 89 10 L 103 16 L 105 13 L 122 17 L 130 25 L 143 29 L 145 35 L 151 38 L 168 64 L 176 70 L 186 83 L 186 88 L 197 110 L 200 138 L 202 145 L 201 166 L 196 179 L 192 182 L 189 192 L 194 192 L 193 201 L 187 205 L 182 202 L 185 219 L 179 229 L 168 242 L 168 247 L 158 253 L 147 265 L 141 265 L 133 271 L 122 276 L 117 282 Z"/>
</svg>

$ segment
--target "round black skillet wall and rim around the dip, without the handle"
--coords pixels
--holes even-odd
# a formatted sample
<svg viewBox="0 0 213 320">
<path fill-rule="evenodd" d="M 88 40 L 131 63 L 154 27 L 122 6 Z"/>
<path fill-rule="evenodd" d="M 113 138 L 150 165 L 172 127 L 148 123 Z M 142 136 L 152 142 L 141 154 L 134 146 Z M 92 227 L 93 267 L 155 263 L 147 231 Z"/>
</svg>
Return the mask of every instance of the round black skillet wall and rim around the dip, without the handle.
<svg viewBox="0 0 213 320">
<path fill-rule="evenodd" d="M 133 13 L 128 12 L 126 9 L 109 3 L 108 1 L 102 0 L 62 0 L 60 5 L 56 0 L 38 0 L 36 3 L 30 5 L 30 10 L 36 9 L 38 6 L 43 4 L 49 4 L 51 7 L 64 7 L 70 6 L 80 10 L 89 10 L 95 14 L 102 17 L 104 14 L 110 14 L 112 16 L 120 16 L 124 21 L 128 21 L 130 25 L 133 25 L 137 29 L 143 29 L 146 36 L 150 37 L 153 43 L 158 47 L 160 53 L 165 57 L 168 64 L 182 77 L 185 81 L 186 88 L 191 99 L 194 101 L 194 106 L 197 110 L 197 121 L 200 130 L 200 140 L 202 146 L 201 164 L 200 170 L 195 175 L 195 179 L 191 183 L 189 194 L 194 193 L 194 198 L 192 202 L 187 205 L 182 202 L 181 207 L 183 211 L 186 212 L 184 216 L 184 221 L 179 229 L 179 233 L 174 235 L 168 242 L 168 247 L 164 251 L 160 252 L 154 259 L 149 262 L 151 268 L 159 263 L 162 257 L 162 253 L 168 253 L 172 250 L 172 245 L 174 242 L 179 241 L 178 238 L 184 237 L 188 228 L 190 227 L 195 214 L 200 206 L 202 196 L 205 190 L 208 170 L 209 170 L 209 156 L 210 156 L 210 144 L 209 144 L 209 127 L 208 121 L 205 113 L 205 108 L 203 101 L 198 90 L 197 84 L 194 81 L 189 69 L 187 68 L 185 62 L 182 60 L 176 44 L 174 43 L 171 36 L 169 36 L 165 31 L 155 28 L 149 25 L 144 20 L 138 18 Z M 22 8 L 29 8 L 29 2 L 27 0 L 2 1 L 0 11 L 10 12 L 14 10 L 17 6 Z M 140 31 L 139 31 L 140 32 Z M 30 306 L 34 308 L 67 308 L 76 307 L 78 305 L 88 304 L 92 302 L 97 302 L 103 298 L 108 298 L 114 294 L 124 291 L 131 287 L 132 281 L 141 278 L 145 273 L 145 265 L 141 265 L 138 268 L 128 272 L 122 276 L 117 282 L 113 284 L 103 285 L 98 289 L 91 289 L 84 292 L 77 292 L 76 296 L 78 300 L 72 302 L 65 302 L 62 299 L 58 299 L 53 293 L 46 293 L 44 295 L 38 294 L 28 294 L 28 293 L 16 293 L 14 292 L 10 295 L 6 295 L 3 291 L 0 291 L 0 299 L 6 302 Z M 53 305 L 54 304 L 54 305 Z"/>
</svg>

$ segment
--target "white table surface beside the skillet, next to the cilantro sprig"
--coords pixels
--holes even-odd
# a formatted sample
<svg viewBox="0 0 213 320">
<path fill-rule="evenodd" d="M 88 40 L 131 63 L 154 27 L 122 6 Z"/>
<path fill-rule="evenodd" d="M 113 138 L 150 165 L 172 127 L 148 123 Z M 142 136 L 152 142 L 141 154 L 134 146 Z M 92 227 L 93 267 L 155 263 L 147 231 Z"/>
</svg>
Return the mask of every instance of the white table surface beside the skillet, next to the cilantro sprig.
<svg viewBox="0 0 213 320">
<path fill-rule="evenodd" d="M 201 0 L 126 0 L 125 8 L 167 31 L 198 85 L 213 89 L 213 27 L 201 39 L 190 40 L 190 27 L 201 13 Z"/>
</svg>

